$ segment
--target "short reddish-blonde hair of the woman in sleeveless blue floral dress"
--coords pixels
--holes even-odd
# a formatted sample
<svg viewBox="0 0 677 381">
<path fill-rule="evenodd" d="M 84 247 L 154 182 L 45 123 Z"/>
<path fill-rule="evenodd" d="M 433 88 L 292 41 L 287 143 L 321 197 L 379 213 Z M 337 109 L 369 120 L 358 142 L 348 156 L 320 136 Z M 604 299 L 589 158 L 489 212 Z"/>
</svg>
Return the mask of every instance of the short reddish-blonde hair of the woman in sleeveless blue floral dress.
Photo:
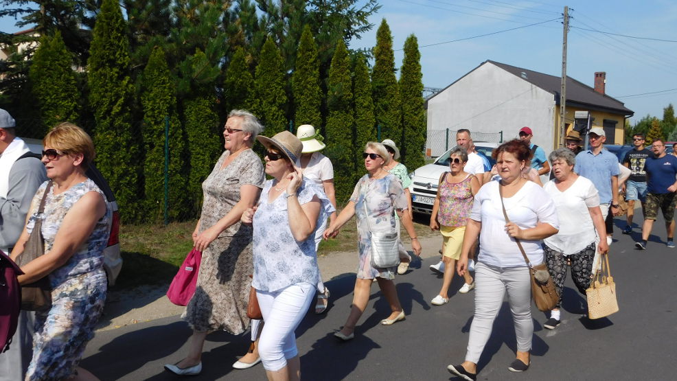
<svg viewBox="0 0 677 381">
<path fill-rule="evenodd" d="M 43 139 L 43 146 L 56 148 L 69 154 L 82 154 L 82 168 L 92 163 L 95 157 L 94 143 L 92 138 L 84 130 L 75 124 L 62 122 L 47 132 Z"/>
</svg>

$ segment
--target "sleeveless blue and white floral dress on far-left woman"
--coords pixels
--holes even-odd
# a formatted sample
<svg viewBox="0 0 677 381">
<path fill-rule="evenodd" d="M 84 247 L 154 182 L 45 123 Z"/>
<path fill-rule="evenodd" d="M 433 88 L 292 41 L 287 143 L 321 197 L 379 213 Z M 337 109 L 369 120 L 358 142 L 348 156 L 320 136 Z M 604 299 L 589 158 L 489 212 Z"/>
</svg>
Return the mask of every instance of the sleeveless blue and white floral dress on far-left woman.
<svg viewBox="0 0 677 381">
<path fill-rule="evenodd" d="M 36 219 L 43 218 L 45 253 L 54 246 L 66 213 L 84 194 L 97 192 L 106 199 L 88 178 L 57 195 L 52 188 L 45 199 L 45 211 L 38 216 L 38 205 L 46 187 L 47 182 L 38 188 L 26 226 L 31 233 Z M 106 213 L 96 222 L 89 238 L 66 264 L 49 274 L 52 305 L 47 312 L 36 312 L 33 358 L 26 380 L 63 380 L 75 375 L 75 368 L 87 343 L 94 337 L 95 325 L 104 310 L 107 284 L 103 251 L 108 243 L 111 214 L 106 205 Z"/>
</svg>

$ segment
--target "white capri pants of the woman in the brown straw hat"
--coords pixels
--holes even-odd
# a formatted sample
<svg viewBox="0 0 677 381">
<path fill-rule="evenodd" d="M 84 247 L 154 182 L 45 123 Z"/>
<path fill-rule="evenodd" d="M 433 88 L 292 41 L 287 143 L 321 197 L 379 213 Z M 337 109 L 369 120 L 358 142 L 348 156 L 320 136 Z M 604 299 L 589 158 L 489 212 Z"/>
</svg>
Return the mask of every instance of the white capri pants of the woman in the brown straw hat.
<svg viewBox="0 0 677 381">
<path fill-rule="evenodd" d="M 266 371 L 279 371 L 299 354 L 294 331 L 306 316 L 316 285 L 298 283 L 273 292 L 256 291 L 263 320 L 259 356 Z"/>
</svg>

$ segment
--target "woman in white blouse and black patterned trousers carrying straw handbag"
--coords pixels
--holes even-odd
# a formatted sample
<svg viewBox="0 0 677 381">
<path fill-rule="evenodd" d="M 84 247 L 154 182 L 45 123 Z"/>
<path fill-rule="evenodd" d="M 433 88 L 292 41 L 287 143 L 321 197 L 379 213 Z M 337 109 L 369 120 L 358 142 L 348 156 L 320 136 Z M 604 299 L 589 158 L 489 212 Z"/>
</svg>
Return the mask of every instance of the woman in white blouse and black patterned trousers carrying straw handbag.
<svg viewBox="0 0 677 381">
<path fill-rule="evenodd" d="M 560 220 L 559 233 L 544 240 L 545 258 L 560 301 L 551 311 L 544 327 L 554 330 L 560 324 L 562 288 L 566 279 L 566 266 L 571 265 L 571 278 L 576 288 L 585 295 L 590 286 L 590 277 L 595 257 L 595 230 L 606 233 L 604 219 L 599 209 L 599 194 L 593 182 L 573 172 L 576 157 L 567 148 L 551 152 L 550 165 L 555 180 L 543 189 L 554 200 Z M 599 242 L 599 253 L 604 255 L 609 246 L 606 240 Z"/>
</svg>

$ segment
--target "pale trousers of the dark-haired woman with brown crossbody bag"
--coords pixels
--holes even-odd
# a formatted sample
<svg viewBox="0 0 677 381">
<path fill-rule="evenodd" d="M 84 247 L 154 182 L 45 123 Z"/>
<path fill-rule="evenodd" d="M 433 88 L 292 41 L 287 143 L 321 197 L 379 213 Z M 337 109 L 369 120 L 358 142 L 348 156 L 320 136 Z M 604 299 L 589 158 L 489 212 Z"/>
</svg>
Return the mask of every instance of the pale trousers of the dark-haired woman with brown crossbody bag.
<svg viewBox="0 0 677 381">
<path fill-rule="evenodd" d="M 507 291 L 512 321 L 515 324 L 517 350 L 531 349 L 533 321 L 531 321 L 531 279 L 529 268 L 500 268 L 483 262 L 475 265 L 475 315 L 470 324 L 466 361 L 479 362 L 489 340 L 494 319 L 501 310 Z"/>
</svg>

